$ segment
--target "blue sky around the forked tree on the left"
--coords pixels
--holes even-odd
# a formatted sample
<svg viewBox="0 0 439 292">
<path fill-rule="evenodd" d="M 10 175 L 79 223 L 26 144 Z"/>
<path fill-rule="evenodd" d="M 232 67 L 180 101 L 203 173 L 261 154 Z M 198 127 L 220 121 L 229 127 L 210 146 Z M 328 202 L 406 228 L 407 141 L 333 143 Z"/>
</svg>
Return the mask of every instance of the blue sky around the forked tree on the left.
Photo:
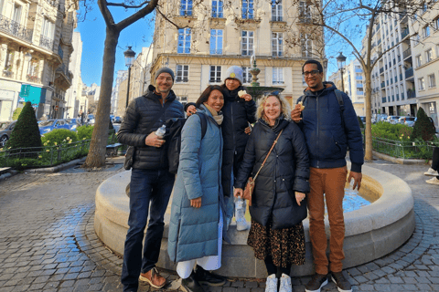
<svg viewBox="0 0 439 292">
<path fill-rule="evenodd" d="M 81 4 L 83 2 L 80 2 Z M 96 3 L 92 4 L 92 10 L 87 13 L 84 21 L 78 23 L 75 31 L 80 32 L 82 39 L 82 60 L 80 64 L 82 82 L 90 86 L 91 83 L 101 85 L 103 45 L 105 41 L 105 22 Z M 111 9 L 116 22 L 133 14 L 132 11 L 125 13 L 123 8 Z M 80 7 L 83 15 L 83 6 Z M 133 25 L 126 27 L 119 36 L 116 50 L 116 64 L 114 72 L 126 70 L 123 52 L 128 46 L 132 46 L 136 56 L 142 51 L 142 47 L 149 47 L 153 39 L 154 23 L 151 18 L 155 13 L 140 19 Z"/>
</svg>

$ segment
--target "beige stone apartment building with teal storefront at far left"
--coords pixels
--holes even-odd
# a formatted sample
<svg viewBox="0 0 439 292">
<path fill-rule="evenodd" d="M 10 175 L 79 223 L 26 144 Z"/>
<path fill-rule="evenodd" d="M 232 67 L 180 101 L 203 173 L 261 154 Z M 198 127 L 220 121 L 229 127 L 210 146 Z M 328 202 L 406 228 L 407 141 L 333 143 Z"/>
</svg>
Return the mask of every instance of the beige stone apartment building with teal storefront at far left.
<svg viewBox="0 0 439 292">
<path fill-rule="evenodd" d="M 31 101 L 37 118 L 62 118 L 78 3 L 0 0 L 0 120 Z"/>
</svg>

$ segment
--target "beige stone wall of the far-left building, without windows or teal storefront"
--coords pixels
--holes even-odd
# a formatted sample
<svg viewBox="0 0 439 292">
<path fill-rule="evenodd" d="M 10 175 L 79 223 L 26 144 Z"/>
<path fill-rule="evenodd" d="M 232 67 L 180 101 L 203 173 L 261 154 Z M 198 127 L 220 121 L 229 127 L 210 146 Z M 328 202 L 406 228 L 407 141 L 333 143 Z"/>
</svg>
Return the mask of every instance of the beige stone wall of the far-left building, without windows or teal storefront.
<svg viewBox="0 0 439 292">
<path fill-rule="evenodd" d="M 52 117 L 63 117 L 65 114 L 66 90 L 71 86 L 72 74 L 69 72 L 69 60 L 72 52 L 71 34 L 76 27 L 77 4 L 70 0 L 54 2 L 38 0 L 27 2 L 22 0 L 5 0 L 0 14 L 6 18 L 14 18 L 15 7 L 21 6 L 18 31 L 3 29 L 0 31 L 0 80 L 5 84 L 16 84 L 14 108 L 18 105 L 21 84 L 46 89 L 46 102 L 39 104 L 37 117 L 50 113 Z M 53 25 L 51 34 L 41 37 L 44 19 Z M 62 34 L 62 40 L 61 38 Z M 60 54 L 59 47 L 63 50 Z M 12 52 L 12 63 L 6 64 L 6 54 Z M 61 56 L 63 55 L 63 56 Z M 31 59 L 27 56 L 31 56 Z M 30 62 L 37 68 L 29 71 Z M 9 66 L 12 65 L 12 66 Z M 1 89 L 0 89 L 1 90 Z M 0 94 L 1 96 L 1 94 Z M 53 99 L 52 99 L 53 97 Z M 0 98 L 0 102 L 1 102 Z M 59 110 L 55 111 L 55 105 Z M 13 109 L 15 110 L 15 109 Z"/>
</svg>

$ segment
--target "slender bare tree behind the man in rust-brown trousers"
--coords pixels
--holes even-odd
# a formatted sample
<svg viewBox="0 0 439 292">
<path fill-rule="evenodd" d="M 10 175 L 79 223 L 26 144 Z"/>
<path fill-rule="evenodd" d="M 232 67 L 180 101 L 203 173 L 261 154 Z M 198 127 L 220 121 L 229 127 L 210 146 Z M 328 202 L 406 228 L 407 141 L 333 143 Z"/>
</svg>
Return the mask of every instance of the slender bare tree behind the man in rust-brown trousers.
<svg viewBox="0 0 439 292">
<path fill-rule="evenodd" d="M 374 27 L 378 25 L 377 18 L 386 15 L 389 19 L 400 19 L 409 17 L 417 21 L 423 20 L 422 13 L 425 9 L 434 6 L 435 0 L 294 0 L 298 5 L 309 6 L 311 14 L 307 23 L 309 26 L 323 27 L 326 34 L 326 47 L 329 44 L 337 45 L 339 50 L 341 44 L 352 48 L 352 54 L 359 60 L 365 75 L 366 84 L 366 151 L 365 159 L 372 159 L 372 135 L 371 135 L 371 73 L 372 69 L 379 63 L 380 58 L 403 41 L 394 43 L 387 49 L 384 48 L 377 54 L 372 53 L 372 38 Z M 363 42 L 359 42 L 359 36 L 366 33 Z M 414 32 L 407 36 L 417 36 Z M 407 39 L 407 37 L 405 39 Z"/>
</svg>

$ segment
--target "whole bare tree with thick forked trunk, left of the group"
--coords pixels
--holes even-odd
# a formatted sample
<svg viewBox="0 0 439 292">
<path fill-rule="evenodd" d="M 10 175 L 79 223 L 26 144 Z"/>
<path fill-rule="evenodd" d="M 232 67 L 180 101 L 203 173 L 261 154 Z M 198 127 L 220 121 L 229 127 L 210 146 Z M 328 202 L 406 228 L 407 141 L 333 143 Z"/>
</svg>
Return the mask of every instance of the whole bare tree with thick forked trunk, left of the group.
<svg viewBox="0 0 439 292">
<path fill-rule="evenodd" d="M 112 99 L 112 81 L 114 64 L 116 59 L 116 47 L 119 36 L 124 28 L 131 26 L 137 20 L 149 15 L 157 6 L 158 0 L 146 0 L 139 5 L 134 1 L 122 1 L 121 3 L 107 2 L 98 0 L 99 9 L 102 13 L 106 25 L 105 47 L 103 49 L 103 65 L 101 78 L 101 94 L 99 96 L 96 111 L 96 122 L 87 160 L 82 165 L 84 168 L 102 167 L 105 165 L 105 146 L 108 136 L 108 124 L 110 122 L 110 110 Z M 119 23 L 115 23 L 109 6 L 121 7 L 125 10 L 134 9 L 133 15 L 124 18 Z"/>
</svg>

